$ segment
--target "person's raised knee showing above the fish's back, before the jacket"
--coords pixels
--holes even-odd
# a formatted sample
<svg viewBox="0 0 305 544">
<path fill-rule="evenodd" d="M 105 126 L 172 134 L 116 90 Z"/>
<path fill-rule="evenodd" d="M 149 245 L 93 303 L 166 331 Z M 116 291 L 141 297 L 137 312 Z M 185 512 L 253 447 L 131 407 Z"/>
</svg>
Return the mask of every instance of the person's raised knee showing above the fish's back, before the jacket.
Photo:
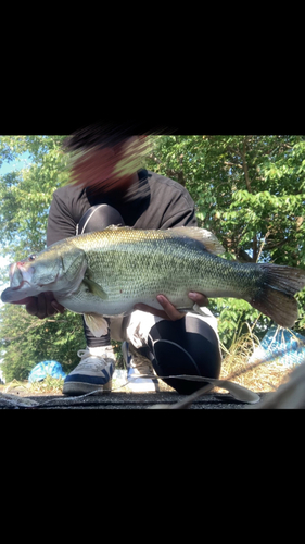
<svg viewBox="0 0 305 544">
<path fill-rule="evenodd" d="M 80 219 L 77 234 L 103 231 L 110 225 L 125 225 L 120 213 L 105 203 L 91 206 Z"/>
</svg>

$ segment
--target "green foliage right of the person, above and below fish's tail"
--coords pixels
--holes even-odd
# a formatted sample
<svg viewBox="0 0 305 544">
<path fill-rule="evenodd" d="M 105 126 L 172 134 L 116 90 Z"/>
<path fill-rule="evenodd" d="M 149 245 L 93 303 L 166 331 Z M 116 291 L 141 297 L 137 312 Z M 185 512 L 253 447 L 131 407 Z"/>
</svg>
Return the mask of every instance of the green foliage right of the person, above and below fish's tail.
<svg viewBox="0 0 305 544">
<path fill-rule="evenodd" d="M 225 257 L 305 268 L 304 136 L 161 136 L 148 168 L 180 182 L 196 203 L 200 226 L 213 231 Z M 305 292 L 295 331 L 304 334 Z M 209 301 L 229 348 L 245 323 L 262 337 L 270 320 L 247 302 Z"/>
</svg>

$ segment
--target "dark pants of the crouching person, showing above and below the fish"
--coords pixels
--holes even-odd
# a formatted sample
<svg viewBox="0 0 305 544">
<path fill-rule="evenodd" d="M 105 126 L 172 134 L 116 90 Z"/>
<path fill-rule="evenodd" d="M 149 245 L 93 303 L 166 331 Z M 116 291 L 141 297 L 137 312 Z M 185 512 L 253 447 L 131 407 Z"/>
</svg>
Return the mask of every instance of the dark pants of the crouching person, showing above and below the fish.
<svg viewBox="0 0 305 544">
<path fill-rule="evenodd" d="M 78 234 L 102 231 L 109 225 L 124 225 L 122 215 L 109 205 L 91 207 L 81 218 Z M 109 320 L 107 320 L 109 321 Z M 107 346 L 110 332 L 96 338 L 84 321 L 88 347 Z M 145 348 L 139 351 L 148 357 L 157 375 L 191 374 L 218 378 L 221 357 L 214 330 L 195 314 L 178 321 L 162 320 L 150 331 Z M 178 393 L 189 394 L 203 386 L 202 382 L 165 379 Z"/>
</svg>

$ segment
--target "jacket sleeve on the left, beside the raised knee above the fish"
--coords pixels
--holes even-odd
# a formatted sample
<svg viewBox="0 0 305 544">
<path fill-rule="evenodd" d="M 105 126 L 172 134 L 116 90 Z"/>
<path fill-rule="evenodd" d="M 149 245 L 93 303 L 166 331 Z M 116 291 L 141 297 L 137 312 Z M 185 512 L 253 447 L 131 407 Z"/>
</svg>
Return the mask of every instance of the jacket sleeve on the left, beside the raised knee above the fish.
<svg viewBox="0 0 305 544">
<path fill-rule="evenodd" d="M 76 223 L 72 218 L 71 210 L 66 202 L 56 194 L 53 194 L 51 202 L 48 227 L 47 246 L 64 238 L 71 238 L 76 235 Z"/>
</svg>

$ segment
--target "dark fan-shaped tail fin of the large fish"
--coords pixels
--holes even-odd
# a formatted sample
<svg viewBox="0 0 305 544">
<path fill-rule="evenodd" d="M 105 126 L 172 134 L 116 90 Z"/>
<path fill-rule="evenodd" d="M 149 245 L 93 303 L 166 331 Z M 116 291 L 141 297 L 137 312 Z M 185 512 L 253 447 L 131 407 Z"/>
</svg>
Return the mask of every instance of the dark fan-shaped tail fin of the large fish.
<svg viewBox="0 0 305 544">
<path fill-rule="evenodd" d="M 305 286 L 305 270 L 278 264 L 259 267 L 264 272 L 263 285 L 249 302 L 280 326 L 293 326 L 298 317 L 294 295 Z"/>
</svg>

